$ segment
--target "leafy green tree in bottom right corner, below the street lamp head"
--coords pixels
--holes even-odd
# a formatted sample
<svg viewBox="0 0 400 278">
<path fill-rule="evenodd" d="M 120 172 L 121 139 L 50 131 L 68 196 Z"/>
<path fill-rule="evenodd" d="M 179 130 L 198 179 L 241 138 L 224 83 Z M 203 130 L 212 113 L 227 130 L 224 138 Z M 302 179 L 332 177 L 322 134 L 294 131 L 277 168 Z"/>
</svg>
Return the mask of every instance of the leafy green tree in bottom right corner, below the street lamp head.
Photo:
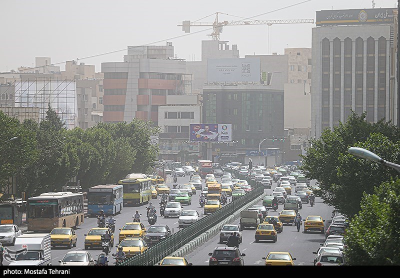
<svg viewBox="0 0 400 278">
<path fill-rule="evenodd" d="M 400 265 L 400 180 L 364 194 L 361 210 L 351 219 L 344 238 L 349 265 Z"/>
</svg>

